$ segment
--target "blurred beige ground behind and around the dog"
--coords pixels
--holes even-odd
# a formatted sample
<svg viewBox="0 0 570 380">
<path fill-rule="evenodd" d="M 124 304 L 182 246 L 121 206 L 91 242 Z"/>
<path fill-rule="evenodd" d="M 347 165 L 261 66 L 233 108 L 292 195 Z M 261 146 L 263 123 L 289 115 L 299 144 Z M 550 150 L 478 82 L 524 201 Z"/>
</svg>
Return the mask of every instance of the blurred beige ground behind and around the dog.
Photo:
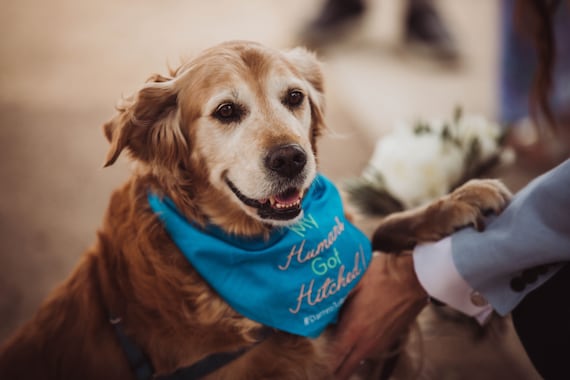
<svg viewBox="0 0 570 380">
<path fill-rule="evenodd" d="M 500 2 L 436 1 L 427 46 L 410 34 L 406 2 L 366 4 L 343 10 L 356 17 L 337 28 L 319 0 L 3 0 L 0 342 L 71 272 L 128 176 L 126 160 L 102 169 L 101 125 L 122 95 L 181 58 L 230 39 L 318 50 L 331 129 L 320 164 L 339 183 L 360 175 L 397 120 L 456 105 L 499 120 Z M 549 165 L 519 160 L 492 175 L 516 190 Z M 424 378 L 536 378 L 508 321 L 481 337 L 430 309 L 422 318 Z"/>
</svg>

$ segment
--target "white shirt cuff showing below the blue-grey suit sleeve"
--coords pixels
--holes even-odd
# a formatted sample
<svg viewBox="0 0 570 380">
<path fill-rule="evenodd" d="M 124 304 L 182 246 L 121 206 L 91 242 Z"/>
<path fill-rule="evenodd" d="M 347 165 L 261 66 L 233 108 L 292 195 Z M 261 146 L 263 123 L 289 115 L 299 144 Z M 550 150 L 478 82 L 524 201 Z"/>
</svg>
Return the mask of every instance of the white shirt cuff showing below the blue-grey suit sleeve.
<svg viewBox="0 0 570 380">
<path fill-rule="evenodd" d="M 414 269 L 430 296 L 474 317 L 481 325 L 488 321 L 493 308 L 457 271 L 451 254 L 451 237 L 416 246 Z"/>
</svg>

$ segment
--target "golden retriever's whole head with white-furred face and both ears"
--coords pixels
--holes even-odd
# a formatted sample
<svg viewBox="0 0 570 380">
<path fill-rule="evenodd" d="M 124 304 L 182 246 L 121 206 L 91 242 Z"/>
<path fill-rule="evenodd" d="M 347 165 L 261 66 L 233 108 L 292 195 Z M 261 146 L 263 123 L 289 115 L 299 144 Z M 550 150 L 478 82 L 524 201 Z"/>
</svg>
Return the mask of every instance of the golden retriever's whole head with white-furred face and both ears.
<svg viewBox="0 0 570 380">
<path fill-rule="evenodd" d="M 169 188 L 184 184 L 185 194 L 168 195 L 192 198 L 215 223 L 241 213 L 291 224 L 316 175 L 322 107 L 322 74 L 311 53 L 224 43 L 169 77 L 152 76 L 124 101 L 104 125 L 106 166 L 127 149 Z"/>
</svg>

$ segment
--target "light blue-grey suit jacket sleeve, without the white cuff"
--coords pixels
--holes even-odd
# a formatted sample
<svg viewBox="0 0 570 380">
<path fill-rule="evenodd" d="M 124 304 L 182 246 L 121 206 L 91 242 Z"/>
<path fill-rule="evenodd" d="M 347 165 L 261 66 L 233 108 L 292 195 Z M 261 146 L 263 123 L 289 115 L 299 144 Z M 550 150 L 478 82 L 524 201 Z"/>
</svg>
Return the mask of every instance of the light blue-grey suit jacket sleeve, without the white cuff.
<svg viewBox="0 0 570 380">
<path fill-rule="evenodd" d="M 452 236 L 453 261 L 461 276 L 501 315 L 570 261 L 570 160 L 529 183 L 484 232 Z M 511 289 L 521 271 L 550 267 L 523 291 Z"/>
</svg>

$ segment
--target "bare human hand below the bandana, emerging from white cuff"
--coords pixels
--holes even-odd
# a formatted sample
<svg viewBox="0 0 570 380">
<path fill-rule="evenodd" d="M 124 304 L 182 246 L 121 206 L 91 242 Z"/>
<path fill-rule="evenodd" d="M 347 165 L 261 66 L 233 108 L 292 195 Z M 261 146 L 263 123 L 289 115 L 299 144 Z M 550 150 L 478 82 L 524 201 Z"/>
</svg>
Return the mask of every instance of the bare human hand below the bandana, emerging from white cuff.
<svg viewBox="0 0 570 380">
<path fill-rule="evenodd" d="M 412 255 L 376 255 L 333 331 L 331 368 L 348 379 L 362 360 L 387 352 L 427 305 Z"/>
</svg>

